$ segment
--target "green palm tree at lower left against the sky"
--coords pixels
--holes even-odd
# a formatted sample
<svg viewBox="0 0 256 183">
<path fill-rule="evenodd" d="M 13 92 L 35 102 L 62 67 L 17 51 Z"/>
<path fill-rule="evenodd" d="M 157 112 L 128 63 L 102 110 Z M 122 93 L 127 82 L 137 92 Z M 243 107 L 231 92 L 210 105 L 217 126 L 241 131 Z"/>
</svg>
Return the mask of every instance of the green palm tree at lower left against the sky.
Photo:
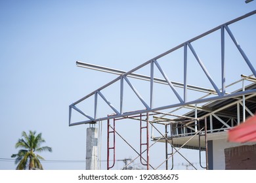
<svg viewBox="0 0 256 183">
<path fill-rule="evenodd" d="M 30 131 L 27 135 L 25 131 L 22 131 L 22 139 L 18 139 L 15 144 L 15 148 L 22 148 L 18 151 L 18 154 L 12 154 L 11 158 L 15 159 L 15 164 L 18 163 L 16 167 L 17 170 L 25 170 L 27 167 L 31 169 L 43 169 L 39 159 L 43 157 L 35 154 L 35 152 L 49 151 L 52 152 L 52 148 L 49 146 L 41 147 L 41 144 L 45 142 L 42 138 L 42 133 L 35 135 L 35 131 Z"/>
</svg>

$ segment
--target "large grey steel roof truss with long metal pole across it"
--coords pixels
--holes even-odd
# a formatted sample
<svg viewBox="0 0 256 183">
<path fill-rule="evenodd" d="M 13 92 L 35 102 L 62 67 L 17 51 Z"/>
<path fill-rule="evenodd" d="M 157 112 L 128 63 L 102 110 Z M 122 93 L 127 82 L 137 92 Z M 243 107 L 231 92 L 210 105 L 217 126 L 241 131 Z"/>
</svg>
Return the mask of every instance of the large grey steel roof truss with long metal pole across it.
<svg viewBox="0 0 256 183">
<path fill-rule="evenodd" d="M 152 58 L 152 59 L 146 61 L 145 63 L 142 63 L 138 67 L 135 67 L 134 69 L 132 69 L 131 71 L 128 71 L 128 72 L 119 71 L 117 69 L 110 69 L 110 68 L 106 68 L 106 67 L 101 67 L 101 66 L 98 66 L 98 65 L 91 65 L 91 64 L 88 64 L 88 63 L 81 63 L 81 62 L 77 61 L 77 66 L 86 67 L 86 68 L 89 68 L 89 69 L 96 69 L 98 71 L 104 71 L 104 72 L 108 72 L 108 73 L 113 73 L 113 74 L 116 74 L 116 75 L 119 75 L 119 76 L 117 76 L 116 79 L 112 80 L 108 84 L 105 84 L 104 86 L 98 88 L 94 92 L 89 93 L 89 95 L 86 95 L 85 97 L 83 97 L 83 98 L 79 99 L 78 101 L 75 101 L 74 103 L 72 103 L 72 105 L 70 105 L 70 107 L 69 107 L 69 125 L 73 126 L 73 125 L 79 125 L 79 124 L 91 124 L 91 123 L 95 123 L 95 122 L 98 122 L 98 121 L 101 121 L 101 120 L 109 120 L 109 119 L 112 119 L 112 118 L 121 118 L 121 117 L 125 117 L 125 116 L 132 116 L 132 115 L 135 115 L 135 114 L 156 112 L 156 111 L 164 110 L 164 109 L 167 109 L 167 108 L 188 107 L 190 105 L 197 105 L 199 103 L 217 101 L 217 100 L 221 100 L 221 99 L 228 99 L 228 98 L 232 98 L 232 97 L 245 96 L 245 95 L 249 95 L 251 93 L 255 93 L 256 89 L 242 90 L 242 91 L 238 91 L 238 92 L 234 92 L 234 93 L 226 93 L 225 71 L 226 71 L 227 68 L 225 67 L 225 59 L 224 59 L 224 55 L 225 55 L 224 33 L 226 32 L 226 33 L 228 33 L 229 37 L 234 42 L 234 45 L 238 49 L 238 52 L 240 52 L 240 54 L 242 55 L 242 58 L 244 58 L 245 63 L 247 64 L 247 66 L 249 67 L 249 69 L 251 70 L 253 75 L 256 76 L 255 67 L 253 67 L 251 61 L 249 61 L 249 58 L 247 58 L 244 50 L 242 49 L 240 44 L 238 44 L 234 35 L 230 31 L 230 28 L 228 27 L 228 25 L 233 24 L 235 22 L 238 22 L 238 21 L 240 21 L 244 18 L 247 18 L 249 16 L 252 16 L 254 14 L 256 14 L 256 10 L 254 10 L 252 12 L 249 12 L 248 14 L 245 14 L 244 16 L 240 16 L 239 18 L 231 20 L 230 22 L 226 22 L 225 24 L 219 25 L 218 27 L 215 27 L 214 29 L 211 29 L 211 30 L 207 31 L 207 32 L 203 33 L 202 35 L 194 37 L 193 39 L 190 39 L 186 42 L 183 42 L 182 44 L 179 44 L 178 46 L 172 48 L 171 50 L 168 50 L 167 52 L 164 52 L 163 54 L 160 54 L 159 56 L 156 56 L 155 58 Z M 221 30 L 221 89 L 219 89 L 217 87 L 217 84 L 214 82 L 214 80 L 211 77 L 211 75 L 209 74 L 207 68 L 203 64 L 202 59 L 200 59 L 200 57 L 196 53 L 196 50 L 192 46 L 192 42 L 197 41 L 198 39 L 201 39 L 202 37 L 205 37 L 206 35 L 209 35 L 209 34 L 215 32 L 217 30 Z M 169 80 L 168 76 L 165 74 L 165 71 L 163 71 L 163 68 L 161 67 L 160 63 L 158 62 L 158 59 L 163 58 L 164 56 L 167 56 L 167 54 L 171 54 L 172 52 L 174 52 L 175 50 L 178 50 L 179 48 L 183 48 L 183 54 L 184 54 L 184 62 L 183 62 L 184 63 L 184 68 L 183 68 L 184 81 L 183 81 L 183 83 L 173 82 L 173 81 Z M 202 69 L 203 73 L 205 73 L 205 76 L 206 76 L 207 80 L 209 80 L 209 82 L 211 83 L 211 86 L 213 88 L 210 88 L 210 89 L 201 88 L 201 87 L 198 87 L 198 86 L 191 86 L 191 85 L 187 84 L 188 49 L 192 52 L 194 58 L 196 58 L 196 61 L 198 61 L 198 64 L 200 65 L 200 68 Z M 139 74 L 135 73 L 135 71 L 137 71 L 138 69 L 141 69 L 142 67 L 145 67 L 146 65 L 150 65 L 150 76 L 144 76 L 144 75 L 139 75 Z M 160 71 L 160 73 L 161 73 L 161 75 L 163 76 L 164 79 L 154 77 L 154 70 L 155 69 L 158 69 L 158 71 Z M 142 79 L 142 80 L 148 80 L 150 82 L 150 102 L 149 103 L 146 103 L 146 101 L 143 99 L 142 95 L 137 91 L 135 86 L 133 86 L 132 82 L 129 80 L 129 77 Z M 102 92 L 100 92 L 104 88 L 107 88 L 108 86 L 111 86 L 112 84 L 114 84 L 116 82 L 120 82 L 119 109 L 114 107 L 114 105 L 112 105 L 112 103 L 110 101 L 108 101 L 108 99 L 106 99 L 104 94 Z M 124 90 L 123 86 L 124 86 L 124 82 L 126 82 L 128 84 L 128 86 L 131 88 L 131 90 L 133 90 L 133 92 L 137 95 L 138 99 L 140 100 L 140 102 L 144 106 L 143 109 L 133 111 L 133 112 L 123 112 L 123 92 L 124 92 L 123 91 Z M 162 106 L 162 107 L 154 107 L 153 106 L 153 98 L 154 98 L 154 92 L 153 92 L 154 90 L 153 89 L 154 89 L 154 83 L 155 82 L 161 83 L 161 84 L 167 84 L 169 86 L 169 88 L 171 88 L 171 92 L 175 94 L 175 96 L 177 97 L 179 102 L 178 103 L 173 103 L 171 105 L 165 105 L 165 106 Z M 177 92 L 176 87 L 183 88 L 183 96 L 181 96 L 179 94 L 179 92 Z M 208 93 L 209 95 L 214 95 L 214 96 L 202 97 L 202 98 L 196 99 L 196 100 L 188 100 L 188 97 L 187 97 L 188 90 L 194 90 L 196 92 L 204 92 L 204 93 Z M 81 109 L 79 109 L 76 106 L 77 104 L 85 101 L 86 99 L 88 99 L 91 96 L 94 96 L 94 98 L 95 98 L 94 116 L 89 116 L 88 114 L 86 114 L 84 111 L 82 111 Z M 98 97 L 101 97 L 105 101 L 105 103 L 110 108 L 112 108 L 115 115 L 100 116 L 100 117 L 97 115 L 98 114 Z M 86 120 L 83 120 L 81 122 L 74 122 L 73 123 L 72 122 L 72 110 L 76 110 L 77 112 L 79 112 L 80 114 L 85 116 Z M 216 118 L 216 116 L 215 116 L 215 118 Z"/>
</svg>

